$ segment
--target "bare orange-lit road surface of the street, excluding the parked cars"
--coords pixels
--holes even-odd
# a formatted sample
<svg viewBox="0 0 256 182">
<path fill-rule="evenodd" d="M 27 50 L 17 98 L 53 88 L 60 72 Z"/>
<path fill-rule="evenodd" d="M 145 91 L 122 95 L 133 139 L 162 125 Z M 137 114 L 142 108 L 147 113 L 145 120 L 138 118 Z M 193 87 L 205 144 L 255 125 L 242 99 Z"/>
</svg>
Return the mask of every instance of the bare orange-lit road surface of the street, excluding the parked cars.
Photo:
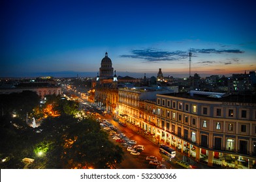
<svg viewBox="0 0 256 182">
<path fill-rule="evenodd" d="M 98 116 L 95 116 L 95 118 L 101 118 L 108 120 L 109 123 L 112 123 L 118 131 L 117 133 L 124 133 L 129 140 L 135 140 L 137 145 L 142 145 L 145 147 L 144 151 L 140 153 L 140 155 L 131 155 L 129 151 L 127 151 L 127 147 L 121 146 L 120 143 L 116 142 L 112 139 L 112 136 L 109 136 L 109 140 L 114 142 L 115 144 L 118 144 L 123 148 L 124 155 L 123 155 L 123 161 L 114 166 L 115 168 L 120 169 L 148 169 L 148 168 L 156 168 L 156 166 L 152 166 L 149 164 L 149 161 L 146 161 L 146 157 L 148 156 L 155 156 L 157 157 L 158 161 L 161 161 L 161 164 L 165 164 L 168 169 L 184 169 L 182 166 L 176 164 L 176 161 L 185 160 L 189 162 L 193 168 L 204 168 L 209 169 L 210 166 L 207 166 L 206 164 L 202 164 L 200 162 L 195 162 L 193 159 L 189 159 L 189 157 L 185 156 L 183 153 L 180 153 L 179 151 L 176 151 L 176 157 L 172 158 L 171 161 L 169 160 L 170 157 L 167 157 L 166 155 L 159 152 L 159 142 L 153 138 L 153 136 L 150 135 L 144 135 L 142 131 L 138 129 L 135 125 L 126 122 L 127 127 L 124 127 L 123 125 L 120 125 L 120 123 L 113 120 L 112 116 L 110 115 L 104 115 L 102 114 L 102 111 L 97 109 L 96 105 L 89 102 L 87 99 L 82 98 L 80 94 L 73 92 L 72 90 L 69 90 L 72 94 L 76 94 L 78 96 L 78 101 L 80 102 L 81 109 L 88 109 L 93 110 L 93 112 L 97 112 Z M 83 104 L 82 104 L 83 103 Z M 85 105 L 86 103 L 86 105 Z M 109 131 L 106 131 L 107 133 Z"/>
</svg>

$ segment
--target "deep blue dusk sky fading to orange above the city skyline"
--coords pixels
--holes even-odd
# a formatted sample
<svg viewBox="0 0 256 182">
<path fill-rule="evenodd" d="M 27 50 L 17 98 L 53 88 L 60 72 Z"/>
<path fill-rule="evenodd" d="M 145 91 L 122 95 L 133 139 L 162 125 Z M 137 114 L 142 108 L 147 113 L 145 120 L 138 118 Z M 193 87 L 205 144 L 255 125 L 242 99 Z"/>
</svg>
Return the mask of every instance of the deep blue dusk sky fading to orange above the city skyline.
<svg viewBox="0 0 256 182">
<path fill-rule="evenodd" d="M 255 71 L 255 1 L 3 0 L 0 77 Z M 135 74 L 137 73 L 137 74 Z M 141 75 L 141 76 L 140 76 Z"/>
</svg>

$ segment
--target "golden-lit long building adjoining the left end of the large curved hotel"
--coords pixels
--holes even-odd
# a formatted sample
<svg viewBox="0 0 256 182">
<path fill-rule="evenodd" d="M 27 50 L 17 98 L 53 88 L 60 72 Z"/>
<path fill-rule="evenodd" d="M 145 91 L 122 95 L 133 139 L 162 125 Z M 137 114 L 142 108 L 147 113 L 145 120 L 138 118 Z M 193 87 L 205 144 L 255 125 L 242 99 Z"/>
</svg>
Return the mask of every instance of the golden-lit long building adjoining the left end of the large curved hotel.
<svg viewBox="0 0 256 182">
<path fill-rule="evenodd" d="M 138 130 L 147 131 L 155 135 L 155 98 L 157 94 L 172 93 L 172 90 L 162 87 L 133 87 L 118 89 L 119 116 L 125 121 L 138 127 Z"/>
</svg>

